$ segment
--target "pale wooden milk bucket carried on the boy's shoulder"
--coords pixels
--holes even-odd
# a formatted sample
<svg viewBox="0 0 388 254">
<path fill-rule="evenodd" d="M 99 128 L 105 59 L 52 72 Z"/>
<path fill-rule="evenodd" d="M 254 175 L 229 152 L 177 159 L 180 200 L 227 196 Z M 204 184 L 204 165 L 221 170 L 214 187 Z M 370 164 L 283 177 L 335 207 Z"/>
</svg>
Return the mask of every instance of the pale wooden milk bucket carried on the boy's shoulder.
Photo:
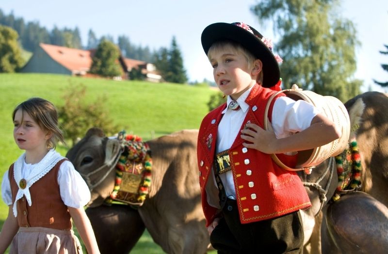
<svg viewBox="0 0 388 254">
<path fill-rule="evenodd" d="M 322 114 L 336 124 L 336 126 L 342 131 L 342 135 L 338 139 L 321 147 L 298 151 L 296 168 L 286 166 L 275 154 L 271 154 L 272 159 L 277 165 L 291 171 L 307 169 L 321 164 L 324 160 L 331 156 L 339 155 L 346 148 L 350 135 L 350 120 L 346 107 L 336 97 L 322 96 L 312 91 L 302 90 L 295 84 L 292 85 L 291 89 L 281 90 L 273 94 L 268 100 L 264 114 L 265 130 L 268 129 L 268 108 L 275 96 L 281 92 L 285 93 L 287 97 L 295 101 L 304 100 L 317 107 Z"/>
</svg>

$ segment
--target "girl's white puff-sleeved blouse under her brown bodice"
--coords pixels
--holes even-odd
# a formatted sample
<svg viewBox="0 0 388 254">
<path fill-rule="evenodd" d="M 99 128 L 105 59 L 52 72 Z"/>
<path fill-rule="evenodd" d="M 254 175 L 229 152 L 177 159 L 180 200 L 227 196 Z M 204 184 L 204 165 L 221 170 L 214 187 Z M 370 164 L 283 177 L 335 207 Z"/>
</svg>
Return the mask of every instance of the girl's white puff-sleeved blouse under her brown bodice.
<svg viewBox="0 0 388 254">
<path fill-rule="evenodd" d="M 37 164 L 27 164 L 23 160 L 22 177 L 26 178 L 29 172 L 34 169 Z M 61 193 L 62 201 L 68 207 L 81 208 L 90 201 L 90 191 L 86 182 L 82 179 L 73 164 L 69 161 L 64 161 L 58 171 L 58 184 Z M 1 182 L 1 197 L 5 204 L 12 205 L 11 185 L 8 179 L 8 170 L 4 173 Z M 32 200 L 33 203 L 33 200 Z"/>
</svg>

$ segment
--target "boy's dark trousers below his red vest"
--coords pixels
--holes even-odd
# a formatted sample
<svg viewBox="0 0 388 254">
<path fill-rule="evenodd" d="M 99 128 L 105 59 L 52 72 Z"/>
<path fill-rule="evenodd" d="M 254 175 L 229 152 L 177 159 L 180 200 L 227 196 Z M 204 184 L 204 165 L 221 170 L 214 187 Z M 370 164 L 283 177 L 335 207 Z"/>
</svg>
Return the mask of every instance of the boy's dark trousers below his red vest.
<svg viewBox="0 0 388 254">
<path fill-rule="evenodd" d="M 236 200 L 227 198 L 222 213 L 223 218 L 210 235 L 218 254 L 303 253 L 304 233 L 299 211 L 241 224 Z"/>
</svg>

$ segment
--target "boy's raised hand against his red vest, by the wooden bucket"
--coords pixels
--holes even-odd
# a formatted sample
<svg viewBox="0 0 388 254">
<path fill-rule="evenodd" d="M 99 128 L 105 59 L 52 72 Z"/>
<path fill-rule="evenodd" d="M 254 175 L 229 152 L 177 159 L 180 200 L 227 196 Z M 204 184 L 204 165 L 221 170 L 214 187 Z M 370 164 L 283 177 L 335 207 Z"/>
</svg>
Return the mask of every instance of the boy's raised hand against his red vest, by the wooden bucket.
<svg viewBox="0 0 388 254">
<path fill-rule="evenodd" d="M 271 124 L 268 130 L 264 130 L 254 123 L 247 123 L 245 129 L 241 130 L 241 138 L 248 141 L 242 143 L 246 148 L 257 149 L 264 153 L 276 153 L 276 136 Z"/>
</svg>

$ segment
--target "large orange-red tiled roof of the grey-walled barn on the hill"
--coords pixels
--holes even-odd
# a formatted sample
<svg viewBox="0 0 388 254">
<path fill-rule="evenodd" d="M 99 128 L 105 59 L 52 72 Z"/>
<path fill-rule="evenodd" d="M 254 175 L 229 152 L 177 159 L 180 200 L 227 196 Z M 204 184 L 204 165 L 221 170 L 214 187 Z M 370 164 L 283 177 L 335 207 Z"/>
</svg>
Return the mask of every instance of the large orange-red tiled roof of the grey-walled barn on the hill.
<svg viewBox="0 0 388 254">
<path fill-rule="evenodd" d="M 89 50 L 68 48 L 57 45 L 39 44 L 49 56 L 74 72 L 87 72 L 92 65 L 92 56 Z"/>
</svg>

